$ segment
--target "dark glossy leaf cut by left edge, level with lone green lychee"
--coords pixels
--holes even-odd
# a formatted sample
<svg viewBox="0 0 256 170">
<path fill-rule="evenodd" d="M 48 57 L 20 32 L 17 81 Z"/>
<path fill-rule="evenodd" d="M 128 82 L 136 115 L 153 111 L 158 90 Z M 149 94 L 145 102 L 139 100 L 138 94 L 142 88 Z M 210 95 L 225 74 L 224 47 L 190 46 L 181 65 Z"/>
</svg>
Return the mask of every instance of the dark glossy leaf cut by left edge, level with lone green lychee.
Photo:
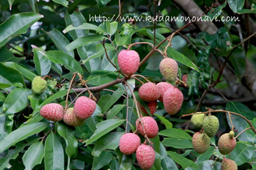
<svg viewBox="0 0 256 170">
<path fill-rule="evenodd" d="M 6 84 L 12 83 L 21 83 L 24 87 L 26 87 L 24 78 L 18 70 L 13 69 L 12 67 L 5 66 L 0 63 L 0 70 L 4 70 L 4 72 L 0 72 L 0 82 Z"/>
</svg>

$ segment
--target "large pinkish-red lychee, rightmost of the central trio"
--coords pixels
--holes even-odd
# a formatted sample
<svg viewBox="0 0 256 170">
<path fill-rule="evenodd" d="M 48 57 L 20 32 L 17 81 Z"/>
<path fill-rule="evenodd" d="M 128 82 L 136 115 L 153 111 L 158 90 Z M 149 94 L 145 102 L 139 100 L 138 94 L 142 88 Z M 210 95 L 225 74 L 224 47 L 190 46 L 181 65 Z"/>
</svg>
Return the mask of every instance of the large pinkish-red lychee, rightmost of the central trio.
<svg viewBox="0 0 256 170">
<path fill-rule="evenodd" d="M 178 88 L 169 88 L 163 95 L 163 106 L 170 115 L 177 114 L 183 103 L 183 94 Z"/>
</svg>

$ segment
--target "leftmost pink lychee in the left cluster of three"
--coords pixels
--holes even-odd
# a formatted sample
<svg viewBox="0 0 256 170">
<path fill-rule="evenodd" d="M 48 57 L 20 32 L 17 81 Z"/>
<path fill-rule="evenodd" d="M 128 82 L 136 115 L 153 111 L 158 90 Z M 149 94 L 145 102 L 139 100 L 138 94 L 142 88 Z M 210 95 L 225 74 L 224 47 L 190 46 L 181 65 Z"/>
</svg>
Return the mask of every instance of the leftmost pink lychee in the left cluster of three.
<svg viewBox="0 0 256 170">
<path fill-rule="evenodd" d="M 63 119 L 63 107 L 57 103 L 49 103 L 41 107 L 40 115 L 51 121 L 61 121 Z"/>
</svg>

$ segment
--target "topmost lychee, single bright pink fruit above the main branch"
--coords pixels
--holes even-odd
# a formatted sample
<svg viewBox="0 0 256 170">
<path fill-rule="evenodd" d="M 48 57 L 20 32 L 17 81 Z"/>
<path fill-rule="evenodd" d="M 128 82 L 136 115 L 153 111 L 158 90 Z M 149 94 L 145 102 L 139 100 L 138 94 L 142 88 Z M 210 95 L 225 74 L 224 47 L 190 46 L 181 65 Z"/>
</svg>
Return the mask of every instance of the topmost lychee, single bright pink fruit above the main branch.
<svg viewBox="0 0 256 170">
<path fill-rule="evenodd" d="M 122 73 L 131 76 L 137 72 L 140 56 L 135 50 L 121 50 L 118 54 L 118 66 Z"/>
</svg>

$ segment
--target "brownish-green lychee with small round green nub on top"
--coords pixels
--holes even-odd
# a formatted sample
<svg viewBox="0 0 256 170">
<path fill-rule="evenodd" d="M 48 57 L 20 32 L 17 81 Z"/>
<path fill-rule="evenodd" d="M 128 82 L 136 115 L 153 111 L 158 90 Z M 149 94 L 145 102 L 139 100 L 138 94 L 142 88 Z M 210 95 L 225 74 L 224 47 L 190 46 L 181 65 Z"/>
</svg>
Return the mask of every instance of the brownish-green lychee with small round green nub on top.
<svg viewBox="0 0 256 170">
<path fill-rule="evenodd" d="M 226 155 L 233 151 L 236 145 L 236 140 L 233 131 L 221 135 L 218 141 L 218 148 L 221 154 Z"/>
</svg>

